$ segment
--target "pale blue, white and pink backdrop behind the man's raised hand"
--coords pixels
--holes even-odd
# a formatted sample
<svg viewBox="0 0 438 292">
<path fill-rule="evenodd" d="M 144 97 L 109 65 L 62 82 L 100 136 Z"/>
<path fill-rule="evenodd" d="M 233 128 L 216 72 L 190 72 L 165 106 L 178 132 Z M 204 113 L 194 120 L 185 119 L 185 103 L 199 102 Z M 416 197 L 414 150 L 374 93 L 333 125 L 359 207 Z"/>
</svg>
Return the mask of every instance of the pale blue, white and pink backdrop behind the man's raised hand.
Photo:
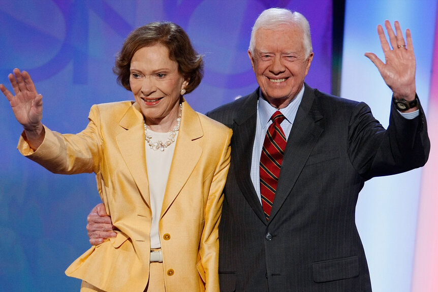
<svg viewBox="0 0 438 292">
<path fill-rule="evenodd" d="M 436 100 L 431 80 L 436 31 L 436 1 L 351 0 L 346 4 L 341 96 L 365 101 L 386 127 L 391 91 L 376 67 L 363 54 L 384 60 L 377 25 L 398 20 L 403 34 L 411 29 L 417 60 L 416 85 L 428 117 L 431 154 L 425 168 L 390 177 L 373 178 L 359 195 L 356 222 L 365 247 L 374 291 L 438 291 L 438 184 L 436 171 Z M 435 56 L 434 56 L 435 54 Z M 435 110 L 430 107 L 435 102 Z M 434 176 L 434 177 L 433 177 Z"/>
</svg>

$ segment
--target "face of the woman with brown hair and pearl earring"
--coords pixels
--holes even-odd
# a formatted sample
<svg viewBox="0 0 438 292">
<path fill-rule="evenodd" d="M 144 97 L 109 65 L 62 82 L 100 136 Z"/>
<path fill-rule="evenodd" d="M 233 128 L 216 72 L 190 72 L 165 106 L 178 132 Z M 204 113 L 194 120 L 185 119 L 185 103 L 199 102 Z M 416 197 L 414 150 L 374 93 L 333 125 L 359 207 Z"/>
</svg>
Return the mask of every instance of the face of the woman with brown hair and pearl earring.
<svg viewBox="0 0 438 292">
<path fill-rule="evenodd" d="M 179 115 L 180 91 L 189 80 L 178 72 L 162 44 L 138 49 L 131 59 L 131 90 L 152 131 L 168 132 Z"/>
</svg>

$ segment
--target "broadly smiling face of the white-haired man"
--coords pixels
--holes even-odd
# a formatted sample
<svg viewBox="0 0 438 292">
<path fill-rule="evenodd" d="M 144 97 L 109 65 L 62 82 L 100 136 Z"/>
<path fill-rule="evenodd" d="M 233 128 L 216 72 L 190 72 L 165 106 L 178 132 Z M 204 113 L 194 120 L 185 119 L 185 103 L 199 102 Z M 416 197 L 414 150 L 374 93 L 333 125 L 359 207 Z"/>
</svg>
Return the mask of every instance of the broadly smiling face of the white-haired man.
<svg viewBox="0 0 438 292">
<path fill-rule="evenodd" d="M 306 58 L 302 30 L 289 24 L 259 28 L 255 41 L 248 55 L 257 83 L 271 106 L 285 108 L 301 90 L 314 54 Z"/>
</svg>

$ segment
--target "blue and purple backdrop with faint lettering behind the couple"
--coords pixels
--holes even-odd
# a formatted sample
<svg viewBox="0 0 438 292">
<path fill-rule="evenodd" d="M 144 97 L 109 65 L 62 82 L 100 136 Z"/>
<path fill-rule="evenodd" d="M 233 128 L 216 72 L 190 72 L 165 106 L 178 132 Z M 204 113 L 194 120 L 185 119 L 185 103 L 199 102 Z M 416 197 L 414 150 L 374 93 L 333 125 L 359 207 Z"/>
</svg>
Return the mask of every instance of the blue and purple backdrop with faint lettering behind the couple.
<svg viewBox="0 0 438 292">
<path fill-rule="evenodd" d="M 43 122 L 61 133 L 87 124 L 92 104 L 132 100 L 112 73 L 132 29 L 151 21 L 181 25 L 205 55 L 202 85 L 186 99 L 206 112 L 252 92 L 251 27 L 266 8 L 310 22 L 315 58 L 307 81 L 330 91 L 331 1 L 0 0 L 0 83 L 18 67 L 44 96 Z M 78 291 L 64 270 L 88 249 L 86 216 L 99 202 L 92 174 L 54 175 L 16 150 L 21 126 L 0 99 L 0 291 Z"/>
</svg>

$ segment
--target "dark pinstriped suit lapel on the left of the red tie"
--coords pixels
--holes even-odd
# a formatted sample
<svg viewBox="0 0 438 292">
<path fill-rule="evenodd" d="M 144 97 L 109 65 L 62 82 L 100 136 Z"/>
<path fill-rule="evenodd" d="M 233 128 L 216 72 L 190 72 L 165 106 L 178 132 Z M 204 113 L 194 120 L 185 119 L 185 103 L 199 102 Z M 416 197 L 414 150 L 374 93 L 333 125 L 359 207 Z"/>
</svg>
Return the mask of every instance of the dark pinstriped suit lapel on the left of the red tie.
<svg viewBox="0 0 438 292">
<path fill-rule="evenodd" d="M 266 223 L 262 205 L 251 180 L 251 161 L 257 123 L 257 101 L 259 89 L 248 96 L 234 119 L 231 138 L 231 167 L 234 169 L 237 184 L 248 204 L 257 216 Z"/>
</svg>

